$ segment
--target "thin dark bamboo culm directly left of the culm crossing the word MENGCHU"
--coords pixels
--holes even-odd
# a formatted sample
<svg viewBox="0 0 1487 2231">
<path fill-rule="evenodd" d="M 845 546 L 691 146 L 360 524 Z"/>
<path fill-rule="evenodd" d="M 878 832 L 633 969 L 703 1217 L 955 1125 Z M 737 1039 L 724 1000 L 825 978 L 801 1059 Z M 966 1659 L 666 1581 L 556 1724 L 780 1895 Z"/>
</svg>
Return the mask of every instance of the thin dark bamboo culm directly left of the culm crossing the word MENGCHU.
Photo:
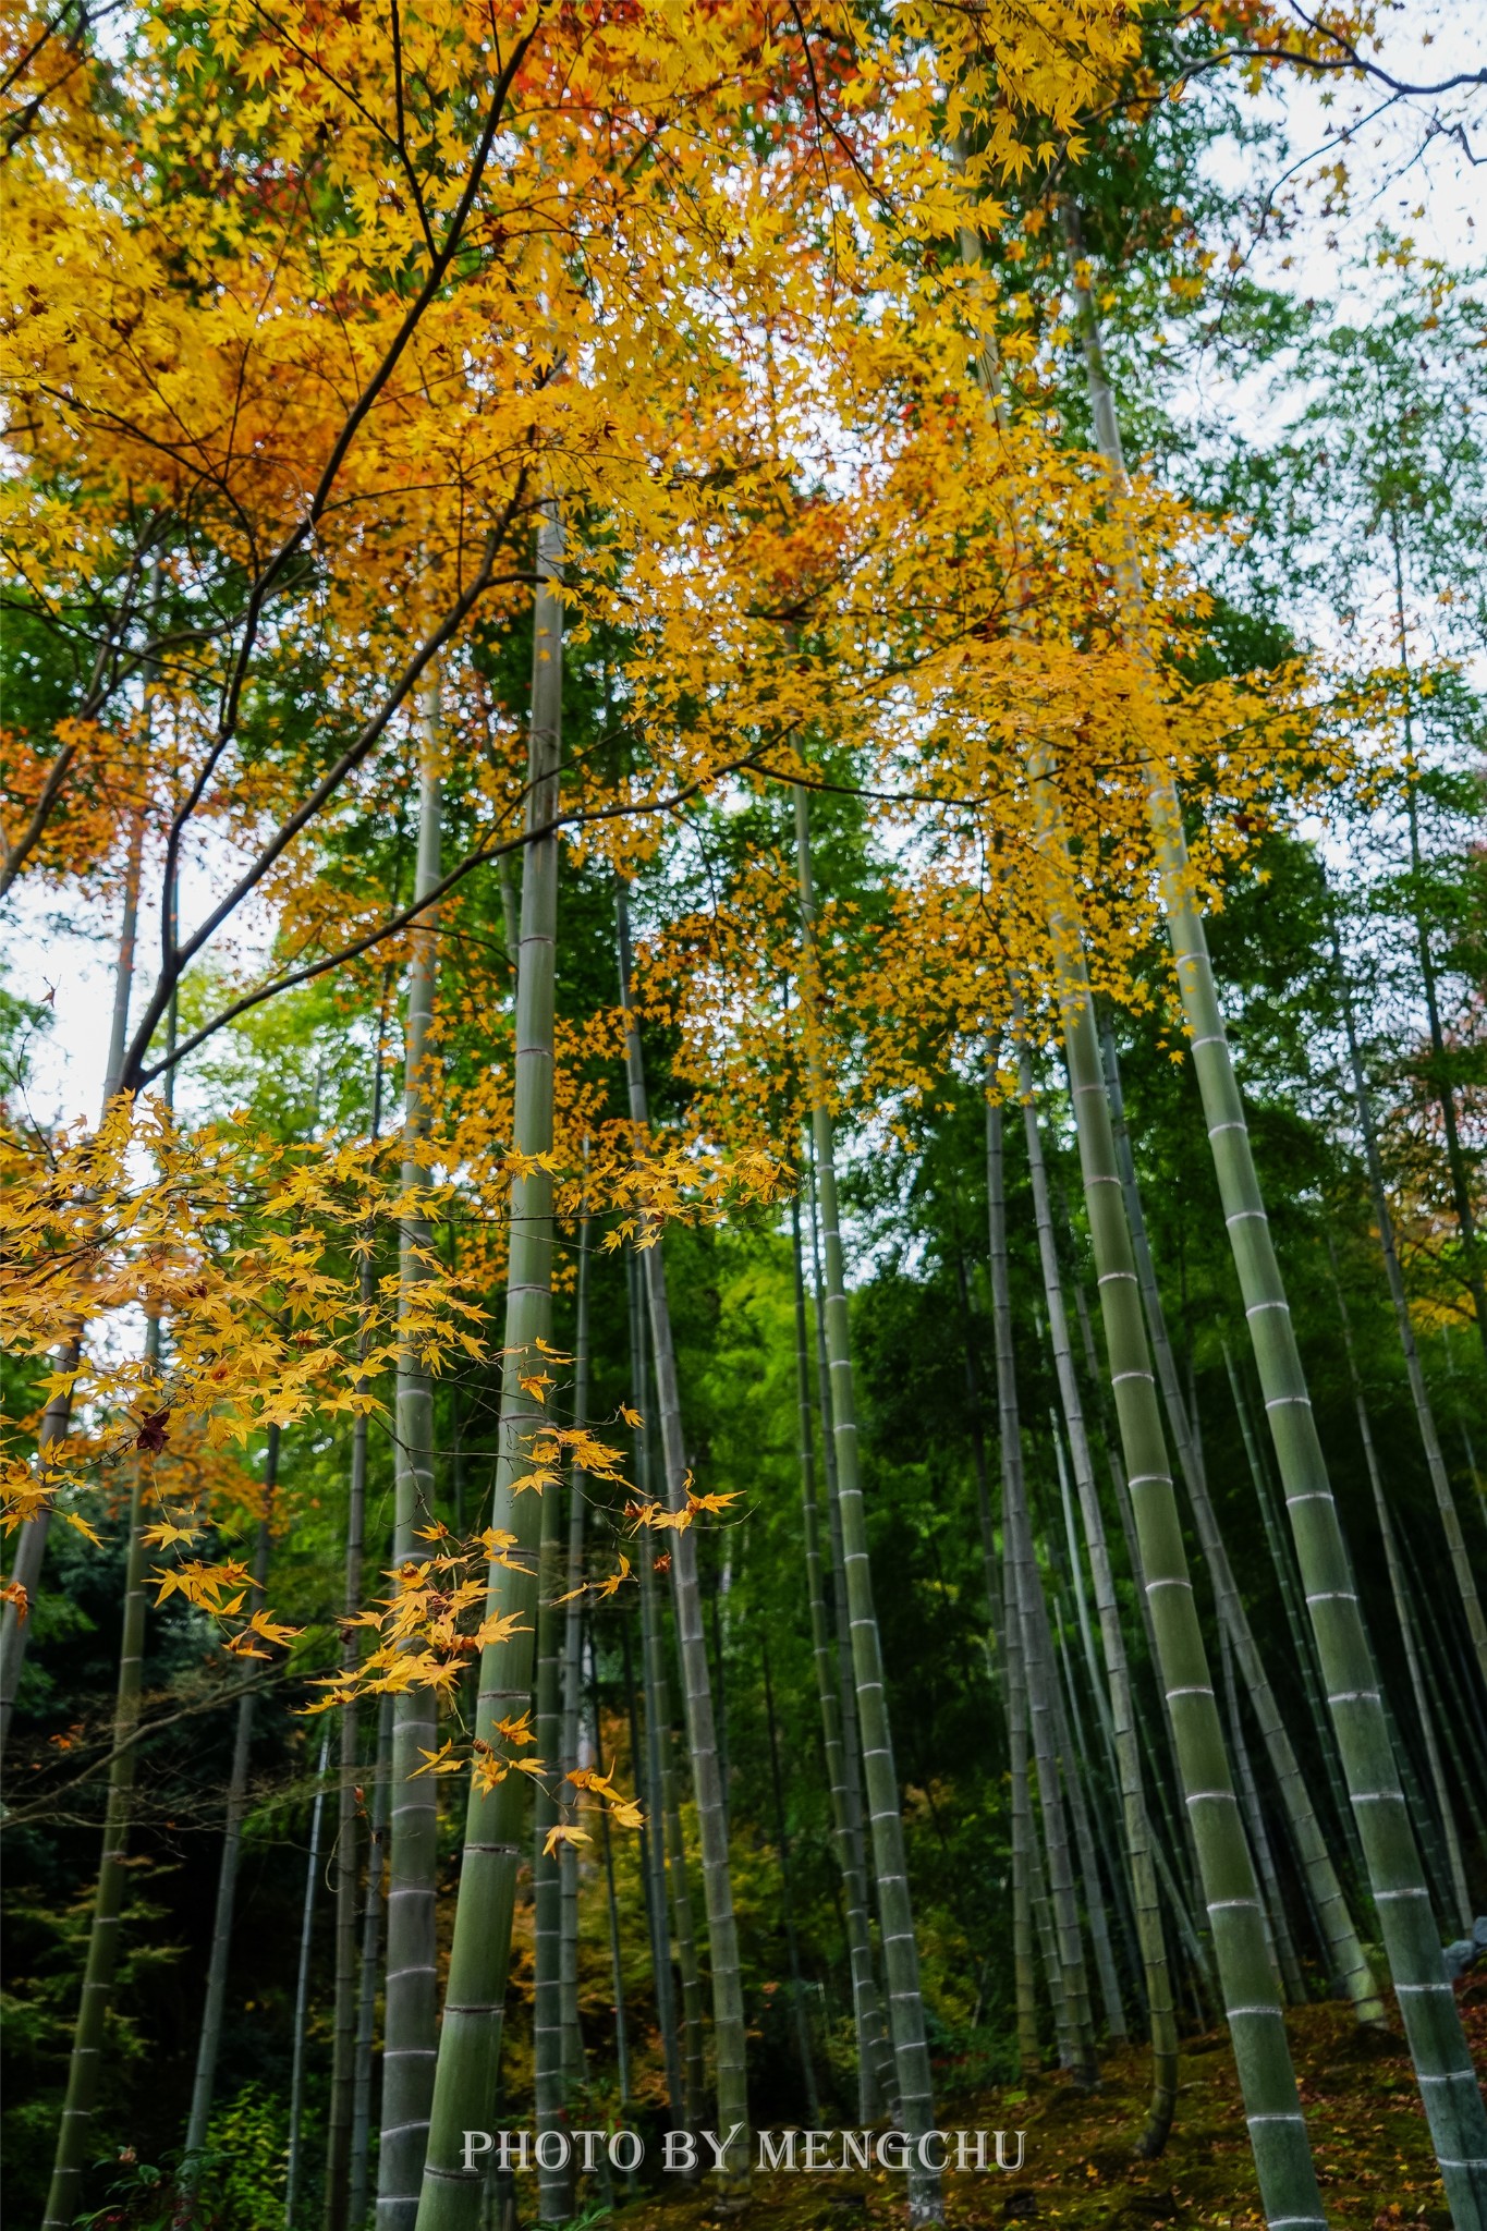
<svg viewBox="0 0 1487 2231">
<path fill-rule="evenodd" d="M 852 2026 L 856 2032 L 856 2099 L 863 2128 L 881 2115 L 887 2070 L 887 2035 L 883 2003 L 872 1972 L 872 1930 L 867 1923 L 867 1865 L 863 1856 L 861 1805 L 852 1809 L 847 1765 L 843 1756 L 840 1693 L 836 1687 L 836 1649 L 827 1622 L 827 1597 L 820 1566 L 820 1506 L 816 1497 L 816 1448 L 811 1435 L 809 1330 L 805 1316 L 805 1249 L 800 1243 L 800 1198 L 789 1205 L 789 1229 L 796 1267 L 796 1397 L 800 1414 L 800 1513 L 805 1542 L 805 1591 L 811 1617 L 811 1664 L 816 1702 L 820 1707 L 820 1740 L 832 1794 L 832 1838 L 843 1879 L 847 1919 L 847 1966 L 852 1972 Z"/>
</svg>

